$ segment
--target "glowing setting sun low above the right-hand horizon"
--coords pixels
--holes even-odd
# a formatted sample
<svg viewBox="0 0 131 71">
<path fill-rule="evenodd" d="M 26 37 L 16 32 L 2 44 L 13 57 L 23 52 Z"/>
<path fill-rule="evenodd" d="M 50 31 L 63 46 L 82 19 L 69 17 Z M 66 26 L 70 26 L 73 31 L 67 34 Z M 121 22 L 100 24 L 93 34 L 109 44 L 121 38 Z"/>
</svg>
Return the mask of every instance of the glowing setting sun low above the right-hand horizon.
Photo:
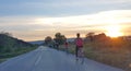
<svg viewBox="0 0 131 71">
<path fill-rule="evenodd" d="M 119 25 L 110 25 L 106 27 L 106 35 L 110 37 L 119 37 L 123 34 L 120 32 L 121 27 Z"/>
</svg>

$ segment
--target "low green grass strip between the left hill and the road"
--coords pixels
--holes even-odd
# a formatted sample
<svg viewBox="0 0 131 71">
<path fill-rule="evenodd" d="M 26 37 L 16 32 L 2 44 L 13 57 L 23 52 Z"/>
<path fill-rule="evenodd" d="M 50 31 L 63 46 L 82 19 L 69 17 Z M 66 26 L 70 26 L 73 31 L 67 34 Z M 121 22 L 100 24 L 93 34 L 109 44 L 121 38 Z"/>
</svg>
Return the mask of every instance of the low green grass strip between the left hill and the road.
<svg viewBox="0 0 131 71">
<path fill-rule="evenodd" d="M 1 52 L 0 54 L 0 63 L 3 61 L 7 61 L 8 59 L 10 59 L 12 57 L 16 57 L 19 55 L 26 54 L 26 52 L 32 51 L 34 49 L 36 49 L 36 46 L 17 48 L 15 51 L 12 51 L 12 52 Z"/>
</svg>

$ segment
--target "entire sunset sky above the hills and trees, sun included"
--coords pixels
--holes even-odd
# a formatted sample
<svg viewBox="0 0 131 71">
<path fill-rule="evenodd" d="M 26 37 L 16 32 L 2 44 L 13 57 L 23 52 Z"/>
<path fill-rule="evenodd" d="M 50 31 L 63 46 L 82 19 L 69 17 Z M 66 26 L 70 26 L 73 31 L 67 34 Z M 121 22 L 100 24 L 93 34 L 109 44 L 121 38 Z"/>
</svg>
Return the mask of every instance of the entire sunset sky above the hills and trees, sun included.
<svg viewBox="0 0 131 71">
<path fill-rule="evenodd" d="M 131 0 L 0 0 L 0 32 L 41 40 L 60 32 L 131 35 Z"/>
</svg>

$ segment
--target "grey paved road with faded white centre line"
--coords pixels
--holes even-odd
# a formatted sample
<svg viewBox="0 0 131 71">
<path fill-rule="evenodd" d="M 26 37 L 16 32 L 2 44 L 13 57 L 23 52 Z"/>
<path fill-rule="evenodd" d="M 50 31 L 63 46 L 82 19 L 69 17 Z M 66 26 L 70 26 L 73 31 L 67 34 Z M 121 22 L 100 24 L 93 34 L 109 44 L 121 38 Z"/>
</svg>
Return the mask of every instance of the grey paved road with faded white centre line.
<svg viewBox="0 0 131 71">
<path fill-rule="evenodd" d="M 0 71 L 123 71 L 85 59 L 82 64 L 73 55 L 67 55 L 44 46 L 34 51 L 9 59 L 0 64 Z"/>
</svg>

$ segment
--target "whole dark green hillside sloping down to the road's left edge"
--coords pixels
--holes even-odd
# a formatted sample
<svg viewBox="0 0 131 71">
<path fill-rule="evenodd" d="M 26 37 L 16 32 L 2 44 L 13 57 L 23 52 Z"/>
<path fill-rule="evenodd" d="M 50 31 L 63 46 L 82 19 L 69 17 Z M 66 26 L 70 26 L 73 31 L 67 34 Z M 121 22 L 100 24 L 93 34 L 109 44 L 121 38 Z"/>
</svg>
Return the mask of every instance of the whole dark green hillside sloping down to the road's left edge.
<svg viewBox="0 0 131 71">
<path fill-rule="evenodd" d="M 35 49 L 36 46 L 8 34 L 0 34 L 0 62 Z"/>
</svg>

